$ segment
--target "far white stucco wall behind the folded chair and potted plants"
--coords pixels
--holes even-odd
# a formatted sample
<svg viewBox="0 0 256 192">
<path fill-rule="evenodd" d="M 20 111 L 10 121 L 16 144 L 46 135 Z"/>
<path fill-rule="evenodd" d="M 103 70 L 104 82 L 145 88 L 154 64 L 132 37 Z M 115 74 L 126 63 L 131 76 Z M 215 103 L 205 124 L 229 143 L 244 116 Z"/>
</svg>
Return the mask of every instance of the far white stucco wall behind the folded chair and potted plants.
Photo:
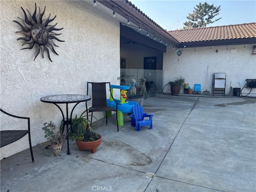
<svg viewBox="0 0 256 192">
<path fill-rule="evenodd" d="M 176 50 L 167 48 L 163 62 L 163 86 L 178 76 L 185 78 L 186 83 L 194 88 L 194 84 L 201 84 L 201 91 L 206 90 L 207 66 L 209 65 L 208 87 L 212 92 L 212 75 L 215 72 L 226 73 L 226 95 L 230 93 L 230 82 L 233 88 L 241 89 L 246 84 L 246 79 L 256 78 L 256 55 L 252 54 L 253 44 L 238 46 L 212 46 L 196 48 L 183 48 L 182 55 L 176 56 Z M 180 49 L 181 50 L 181 49 Z M 218 50 L 218 53 L 216 53 Z M 239 85 L 240 83 L 240 85 Z M 244 88 L 242 94 L 250 92 L 250 88 Z M 170 92 L 166 86 L 164 92 Z M 184 93 L 182 88 L 181 93 Z M 256 96 L 253 88 L 248 96 Z"/>
</svg>

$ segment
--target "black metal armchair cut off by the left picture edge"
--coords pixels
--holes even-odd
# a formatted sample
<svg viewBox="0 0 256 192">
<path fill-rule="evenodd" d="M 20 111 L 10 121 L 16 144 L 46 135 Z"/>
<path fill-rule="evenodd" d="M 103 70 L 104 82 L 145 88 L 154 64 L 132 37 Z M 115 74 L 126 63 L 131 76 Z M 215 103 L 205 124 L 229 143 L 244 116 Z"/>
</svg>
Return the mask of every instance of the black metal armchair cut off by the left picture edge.
<svg viewBox="0 0 256 192">
<path fill-rule="evenodd" d="M 27 119 L 28 120 L 28 129 L 27 130 L 5 130 L 5 131 L 0 131 L 0 136 L 1 136 L 1 146 L 4 147 L 8 144 L 11 144 L 22 137 L 24 137 L 26 134 L 28 134 L 28 141 L 29 141 L 29 147 L 30 147 L 30 153 L 31 153 L 31 158 L 32 158 L 32 163 L 34 163 L 34 156 L 32 152 L 32 145 L 31 145 L 31 136 L 30 136 L 30 118 L 29 117 L 20 117 L 20 116 L 15 116 L 12 114 L 9 114 L 5 112 L 4 110 L 0 109 L 1 112 L 4 114 L 14 117 L 14 118 L 19 118 L 19 119 Z"/>
</svg>

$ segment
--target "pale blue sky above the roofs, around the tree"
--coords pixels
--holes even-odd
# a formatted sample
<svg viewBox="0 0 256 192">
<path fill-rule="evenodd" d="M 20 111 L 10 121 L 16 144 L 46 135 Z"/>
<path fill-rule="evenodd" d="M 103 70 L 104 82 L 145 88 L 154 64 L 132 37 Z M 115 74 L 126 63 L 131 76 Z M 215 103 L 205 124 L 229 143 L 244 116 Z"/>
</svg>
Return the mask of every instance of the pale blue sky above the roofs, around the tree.
<svg viewBox="0 0 256 192">
<path fill-rule="evenodd" d="M 214 19 L 220 20 L 208 24 L 222 26 L 256 22 L 256 0 L 130 0 L 142 12 L 167 30 L 183 28 L 183 23 L 188 21 L 186 16 L 192 13 L 199 3 L 207 2 L 215 7 L 220 6 L 220 14 Z"/>
</svg>

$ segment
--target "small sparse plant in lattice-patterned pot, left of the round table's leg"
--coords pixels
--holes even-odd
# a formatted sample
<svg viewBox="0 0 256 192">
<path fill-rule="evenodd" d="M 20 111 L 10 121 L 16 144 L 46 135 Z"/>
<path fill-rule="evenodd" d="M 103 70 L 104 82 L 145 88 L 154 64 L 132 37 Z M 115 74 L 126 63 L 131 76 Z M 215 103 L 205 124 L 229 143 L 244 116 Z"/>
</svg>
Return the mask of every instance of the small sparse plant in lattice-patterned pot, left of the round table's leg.
<svg viewBox="0 0 256 192">
<path fill-rule="evenodd" d="M 62 148 L 63 141 L 67 134 L 63 134 L 62 130 L 57 130 L 56 125 L 52 121 L 50 121 L 50 123 L 44 123 L 42 130 L 44 131 L 44 137 L 49 141 L 55 155 L 57 155 Z"/>
</svg>

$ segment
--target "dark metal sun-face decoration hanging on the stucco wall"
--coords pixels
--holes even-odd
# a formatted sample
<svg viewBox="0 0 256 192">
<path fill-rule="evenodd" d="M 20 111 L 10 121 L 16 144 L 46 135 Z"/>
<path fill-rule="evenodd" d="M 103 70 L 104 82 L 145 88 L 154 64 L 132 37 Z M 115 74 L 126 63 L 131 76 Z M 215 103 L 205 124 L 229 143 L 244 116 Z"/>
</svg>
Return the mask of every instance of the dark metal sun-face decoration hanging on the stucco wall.
<svg viewBox="0 0 256 192">
<path fill-rule="evenodd" d="M 35 3 L 35 6 L 36 6 L 36 3 Z M 36 46 L 36 56 L 35 56 L 34 60 L 40 53 L 40 50 L 42 53 L 42 58 L 44 58 L 44 51 L 46 50 L 46 52 L 48 54 L 48 58 L 52 62 L 48 48 L 50 48 L 50 50 L 52 50 L 52 52 L 54 52 L 56 55 L 58 55 L 52 45 L 59 47 L 53 42 L 52 39 L 56 39 L 60 42 L 64 42 L 54 36 L 54 35 L 61 35 L 62 33 L 56 34 L 56 33 L 52 32 L 54 30 L 55 31 L 62 30 L 63 28 L 60 28 L 60 29 L 54 28 L 54 26 L 56 26 L 58 23 L 56 23 L 55 25 L 48 25 L 50 22 L 52 22 L 56 18 L 56 16 L 54 16 L 54 18 L 50 19 L 50 16 L 51 16 L 51 14 L 50 14 L 48 16 L 48 18 L 42 20 L 42 17 L 44 15 L 44 11 L 45 11 L 45 6 L 44 6 L 44 11 L 42 13 L 40 12 L 40 7 L 39 7 L 39 14 L 37 16 L 36 16 L 36 8 L 35 8 L 34 14 L 32 16 L 31 16 L 30 12 L 28 11 L 28 9 L 26 9 L 28 11 L 28 16 L 22 7 L 21 7 L 21 9 L 24 12 L 25 20 L 23 20 L 22 18 L 19 18 L 19 17 L 18 18 L 24 22 L 24 25 L 22 25 L 18 21 L 15 21 L 15 20 L 13 20 L 13 21 L 16 22 L 17 24 L 19 24 L 23 30 L 23 31 L 17 31 L 16 33 L 22 33 L 26 36 L 26 37 L 20 37 L 17 40 L 25 40 L 26 41 L 22 44 L 22 46 L 25 44 L 30 44 L 30 47 L 26 47 L 26 48 L 22 48 L 22 49 L 32 49 L 35 45 Z"/>
</svg>

